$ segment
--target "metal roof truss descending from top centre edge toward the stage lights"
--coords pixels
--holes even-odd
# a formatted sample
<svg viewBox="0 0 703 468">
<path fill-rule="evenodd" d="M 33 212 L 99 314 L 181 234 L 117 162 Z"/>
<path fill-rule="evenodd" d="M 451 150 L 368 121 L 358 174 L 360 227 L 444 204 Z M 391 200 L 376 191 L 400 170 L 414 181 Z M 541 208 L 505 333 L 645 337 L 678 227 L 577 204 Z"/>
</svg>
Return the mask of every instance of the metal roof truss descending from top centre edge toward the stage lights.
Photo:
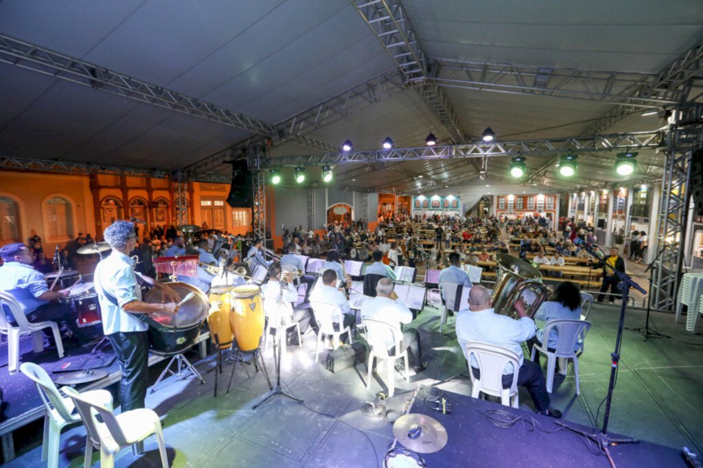
<svg viewBox="0 0 703 468">
<path fill-rule="evenodd" d="M 434 112 L 454 143 L 465 136 L 444 92 L 431 82 L 437 67 L 428 63 L 420 40 L 399 0 L 352 0 L 356 11 L 376 34 L 406 82 L 418 82 L 415 90 Z"/>
</svg>

